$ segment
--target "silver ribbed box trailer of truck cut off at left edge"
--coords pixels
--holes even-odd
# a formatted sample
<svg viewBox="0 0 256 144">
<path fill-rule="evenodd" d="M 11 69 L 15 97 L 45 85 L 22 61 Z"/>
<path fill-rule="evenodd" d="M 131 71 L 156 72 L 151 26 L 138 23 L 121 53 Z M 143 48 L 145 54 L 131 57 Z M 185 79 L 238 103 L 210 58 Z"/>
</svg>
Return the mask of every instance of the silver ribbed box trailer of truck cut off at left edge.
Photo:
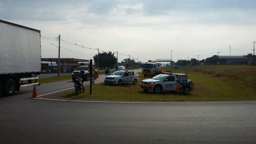
<svg viewBox="0 0 256 144">
<path fill-rule="evenodd" d="M 39 84 L 40 70 L 40 30 L 0 19 L 0 97 Z"/>
</svg>

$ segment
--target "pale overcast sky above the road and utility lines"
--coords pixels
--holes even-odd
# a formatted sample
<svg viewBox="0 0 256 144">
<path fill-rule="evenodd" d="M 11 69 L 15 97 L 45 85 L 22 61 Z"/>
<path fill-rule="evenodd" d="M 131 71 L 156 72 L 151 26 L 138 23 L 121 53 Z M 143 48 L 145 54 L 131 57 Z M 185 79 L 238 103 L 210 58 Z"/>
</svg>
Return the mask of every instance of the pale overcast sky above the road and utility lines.
<svg viewBox="0 0 256 144">
<path fill-rule="evenodd" d="M 256 0 L 1 0 L 0 19 L 103 51 L 118 62 L 199 60 L 253 53 Z M 57 58 L 56 40 L 41 40 L 42 58 Z M 96 50 L 61 43 L 61 58 L 90 59 Z M 74 51 L 74 52 L 72 52 Z M 76 52 L 76 53 L 75 53 Z M 81 53 L 81 54 L 78 54 Z M 94 53 L 94 54 L 93 54 Z M 123 55 L 121 55 L 123 54 Z"/>
</svg>

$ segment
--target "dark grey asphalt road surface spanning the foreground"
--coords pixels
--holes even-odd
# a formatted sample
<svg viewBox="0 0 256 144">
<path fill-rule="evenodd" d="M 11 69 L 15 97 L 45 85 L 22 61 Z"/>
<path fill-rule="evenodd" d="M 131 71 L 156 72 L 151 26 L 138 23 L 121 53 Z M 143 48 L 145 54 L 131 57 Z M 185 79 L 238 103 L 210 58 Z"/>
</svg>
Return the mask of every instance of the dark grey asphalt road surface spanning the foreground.
<svg viewBox="0 0 256 144">
<path fill-rule="evenodd" d="M 60 101 L 59 90 L 72 86 L 37 86 L 38 99 L 29 98 L 32 87 L 0 98 L 0 143 L 256 143 L 255 101 Z"/>
</svg>

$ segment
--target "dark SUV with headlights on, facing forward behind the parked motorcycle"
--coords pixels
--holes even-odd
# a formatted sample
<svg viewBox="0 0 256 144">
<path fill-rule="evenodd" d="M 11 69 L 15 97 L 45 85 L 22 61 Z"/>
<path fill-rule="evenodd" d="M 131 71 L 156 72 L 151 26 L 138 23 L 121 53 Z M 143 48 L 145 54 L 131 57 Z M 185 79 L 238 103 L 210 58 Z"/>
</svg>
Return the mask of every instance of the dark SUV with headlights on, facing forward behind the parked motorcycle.
<svg viewBox="0 0 256 144">
<path fill-rule="evenodd" d="M 81 76 L 81 71 L 83 71 Z M 76 77 L 81 76 L 83 81 L 88 81 L 90 79 L 89 67 L 88 66 L 79 66 L 75 71 L 72 72 L 72 80 L 74 81 Z"/>
</svg>

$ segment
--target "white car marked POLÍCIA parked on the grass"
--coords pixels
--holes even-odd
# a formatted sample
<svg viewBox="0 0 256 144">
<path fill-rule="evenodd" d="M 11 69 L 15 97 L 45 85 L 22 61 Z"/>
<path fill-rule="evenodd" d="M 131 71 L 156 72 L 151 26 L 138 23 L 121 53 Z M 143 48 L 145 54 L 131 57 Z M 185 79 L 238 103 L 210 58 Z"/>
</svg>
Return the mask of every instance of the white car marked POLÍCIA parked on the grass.
<svg viewBox="0 0 256 144">
<path fill-rule="evenodd" d="M 122 85 L 123 83 L 137 84 L 139 75 L 134 71 L 115 71 L 104 79 L 105 83 Z"/>
</svg>

